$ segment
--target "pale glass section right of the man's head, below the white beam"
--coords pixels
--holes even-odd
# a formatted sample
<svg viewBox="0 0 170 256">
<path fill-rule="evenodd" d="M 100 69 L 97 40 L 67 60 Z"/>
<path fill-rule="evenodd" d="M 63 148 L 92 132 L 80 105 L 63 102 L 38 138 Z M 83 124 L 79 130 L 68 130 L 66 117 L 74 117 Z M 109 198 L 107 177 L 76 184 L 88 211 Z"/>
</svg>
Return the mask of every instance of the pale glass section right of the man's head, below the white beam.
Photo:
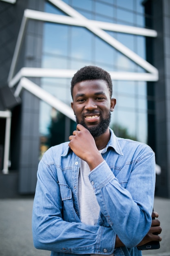
<svg viewBox="0 0 170 256">
<path fill-rule="evenodd" d="M 113 81 L 113 97 L 117 99 L 111 126 L 117 136 L 147 143 L 146 82 Z"/>
</svg>

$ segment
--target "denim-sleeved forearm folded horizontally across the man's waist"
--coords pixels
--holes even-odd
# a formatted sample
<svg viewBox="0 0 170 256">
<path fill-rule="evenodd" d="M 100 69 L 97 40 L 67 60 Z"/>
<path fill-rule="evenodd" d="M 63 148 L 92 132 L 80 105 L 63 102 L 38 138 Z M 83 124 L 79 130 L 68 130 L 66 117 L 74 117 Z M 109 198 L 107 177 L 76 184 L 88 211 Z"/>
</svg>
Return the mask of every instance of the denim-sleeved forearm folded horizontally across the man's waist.
<svg viewBox="0 0 170 256">
<path fill-rule="evenodd" d="M 104 254 L 107 249 L 111 254 L 113 238 L 111 228 L 64 222 L 56 216 L 38 221 L 33 213 L 33 242 L 37 249 L 72 254 Z"/>
</svg>

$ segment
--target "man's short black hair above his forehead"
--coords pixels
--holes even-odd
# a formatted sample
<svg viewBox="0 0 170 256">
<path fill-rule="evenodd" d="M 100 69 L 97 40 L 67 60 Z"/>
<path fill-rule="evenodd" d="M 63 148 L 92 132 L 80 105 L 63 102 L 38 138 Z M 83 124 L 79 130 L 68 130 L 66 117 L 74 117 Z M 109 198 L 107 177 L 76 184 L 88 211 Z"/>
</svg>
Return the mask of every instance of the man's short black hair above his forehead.
<svg viewBox="0 0 170 256">
<path fill-rule="evenodd" d="M 104 80 L 108 85 L 108 90 L 110 92 L 110 98 L 112 97 L 112 79 L 110 74 L 103 70 L 101 67 L 97 66 L 85 66 L 78 70 L 72 80 L 71 80 L 71 96 L 73 99 L 73 87 L 76 83 L 86 81 L 86 80 Z"/>
</svg>

